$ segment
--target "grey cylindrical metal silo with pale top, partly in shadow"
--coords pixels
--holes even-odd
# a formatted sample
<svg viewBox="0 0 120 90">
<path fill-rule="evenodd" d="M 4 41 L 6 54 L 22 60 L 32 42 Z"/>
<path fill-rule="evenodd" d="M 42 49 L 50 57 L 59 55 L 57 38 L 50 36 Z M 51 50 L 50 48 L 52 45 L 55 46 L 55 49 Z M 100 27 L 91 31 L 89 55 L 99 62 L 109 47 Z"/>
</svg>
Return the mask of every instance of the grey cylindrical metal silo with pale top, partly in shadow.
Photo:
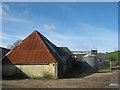
<svg viewBox="0 0 120 90">
<path fill-rule="evenodd" d="M 84 71 L 97 72 L 97 56 L 94 54 L 87 54 L 83 56 Z"/>
</svg>

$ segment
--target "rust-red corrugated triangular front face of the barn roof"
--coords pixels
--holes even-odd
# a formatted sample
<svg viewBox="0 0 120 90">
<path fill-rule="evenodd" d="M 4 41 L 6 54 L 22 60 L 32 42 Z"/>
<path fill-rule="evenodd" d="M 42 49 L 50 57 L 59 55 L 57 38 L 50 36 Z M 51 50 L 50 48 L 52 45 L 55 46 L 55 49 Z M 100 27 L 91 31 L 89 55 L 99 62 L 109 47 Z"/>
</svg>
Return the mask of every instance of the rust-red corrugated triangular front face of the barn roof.
<svg viewBox="0 0 120 90">
<path fill-rule="evenodd" d="M 8 58 L 12 63 L 57 62 L 45 42 L 41 41 L 43 41 L 42 34 L 35 30 L 11 50 L 4 59 Z M 49 52 L 47 52 L 47 50 Z M 43 58 L 44 56 L 42 56 L 42 54 L 48 55 L 49 58 Z"/>
</svg>

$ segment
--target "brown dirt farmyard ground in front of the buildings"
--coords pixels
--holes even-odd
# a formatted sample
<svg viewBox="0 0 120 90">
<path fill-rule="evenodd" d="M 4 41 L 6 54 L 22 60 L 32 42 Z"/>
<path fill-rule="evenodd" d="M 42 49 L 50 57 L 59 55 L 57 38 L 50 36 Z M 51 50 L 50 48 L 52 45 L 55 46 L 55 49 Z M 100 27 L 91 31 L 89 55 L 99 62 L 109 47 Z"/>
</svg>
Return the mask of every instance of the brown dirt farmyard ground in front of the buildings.
<svg viewBox="0 0 120 90">
<path fill-rule="evenodd" d="M 118 88 L 118 71 L 103 71 L 94 74 L 79 74 L 72 78 L 46 80 L 3 80 L 3 88 Z"/>
</svg>

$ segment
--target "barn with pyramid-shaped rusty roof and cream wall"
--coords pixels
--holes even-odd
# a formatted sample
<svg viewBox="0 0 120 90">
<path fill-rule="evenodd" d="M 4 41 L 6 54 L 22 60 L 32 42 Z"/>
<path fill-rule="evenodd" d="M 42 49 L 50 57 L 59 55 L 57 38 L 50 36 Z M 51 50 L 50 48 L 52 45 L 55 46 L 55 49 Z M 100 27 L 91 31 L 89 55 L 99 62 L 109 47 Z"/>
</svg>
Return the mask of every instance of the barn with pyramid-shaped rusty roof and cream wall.
<svg viewBox="0 0 120 90">
<path fill-rule="evenodd" d="M 35 30 L 2 58 L 2 74 L 61 78 L 72 67 L 71 55 Z"/>
</svg>

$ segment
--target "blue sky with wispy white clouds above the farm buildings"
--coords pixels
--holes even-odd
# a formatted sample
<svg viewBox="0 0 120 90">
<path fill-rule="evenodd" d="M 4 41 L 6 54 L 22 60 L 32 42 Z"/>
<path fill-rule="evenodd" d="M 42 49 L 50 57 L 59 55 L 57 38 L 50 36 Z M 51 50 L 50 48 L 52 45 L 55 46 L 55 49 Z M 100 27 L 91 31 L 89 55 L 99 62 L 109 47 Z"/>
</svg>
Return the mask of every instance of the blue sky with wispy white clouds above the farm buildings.
<svg viewBox="0 0 120 90">
<path fill-rule="evenodd" d="M 117 2 L 3 2 L 0 7 L 0 46 L 38 30 L 56 46 L 72 51 L 118 49 Z"/>
</svg>

